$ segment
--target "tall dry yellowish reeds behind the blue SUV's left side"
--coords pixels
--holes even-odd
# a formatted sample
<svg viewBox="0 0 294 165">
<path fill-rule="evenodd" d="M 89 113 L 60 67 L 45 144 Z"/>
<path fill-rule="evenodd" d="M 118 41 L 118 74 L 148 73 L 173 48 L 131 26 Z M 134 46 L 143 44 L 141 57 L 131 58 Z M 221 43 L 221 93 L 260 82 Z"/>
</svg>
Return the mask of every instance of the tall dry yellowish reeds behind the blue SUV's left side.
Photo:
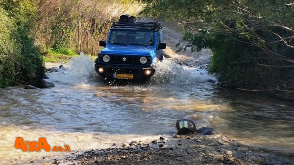
<svg viewBox="0 0 294 165">
<path fill-rule="evenodd" d="M 106 40 L 113 21 L 126 12 L 136 14 L 133 0 L 40 0 L 36 43 L 45 54 L 69 48 L 77 54 L 95 55 L 99 40 Z"/>
</svg>

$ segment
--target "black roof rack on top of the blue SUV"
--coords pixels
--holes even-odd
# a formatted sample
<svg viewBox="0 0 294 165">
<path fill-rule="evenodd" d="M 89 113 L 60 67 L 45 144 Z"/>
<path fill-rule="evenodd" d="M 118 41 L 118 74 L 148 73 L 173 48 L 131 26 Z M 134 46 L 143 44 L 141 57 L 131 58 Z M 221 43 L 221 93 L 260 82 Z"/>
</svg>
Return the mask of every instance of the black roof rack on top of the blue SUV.
<svg viewBox="0 0 294 165">
<path fill-rule="evenodd" d="M 113 22 L 111 27 L 147 27 L 147 28 L 154 28 L 157 30 L 162 29 L 160 22 L 136 22 L 136 23 L 129 23 L 129 22 Z"/>
</svg>

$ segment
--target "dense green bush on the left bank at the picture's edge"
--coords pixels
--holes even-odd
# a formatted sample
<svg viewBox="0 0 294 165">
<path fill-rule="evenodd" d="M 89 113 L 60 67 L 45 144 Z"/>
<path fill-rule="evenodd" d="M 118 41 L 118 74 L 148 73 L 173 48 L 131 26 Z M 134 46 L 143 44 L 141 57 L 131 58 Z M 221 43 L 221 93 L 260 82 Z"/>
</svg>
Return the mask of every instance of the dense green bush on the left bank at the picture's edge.
<svg viewBox="0 0 294 165">
<path fill-rule="evenodd" d="M 0 87 L 44 74 L 40 51 L 29 36 L 35 4 L 33 0 L 0 0 Z"/>
</svg>

